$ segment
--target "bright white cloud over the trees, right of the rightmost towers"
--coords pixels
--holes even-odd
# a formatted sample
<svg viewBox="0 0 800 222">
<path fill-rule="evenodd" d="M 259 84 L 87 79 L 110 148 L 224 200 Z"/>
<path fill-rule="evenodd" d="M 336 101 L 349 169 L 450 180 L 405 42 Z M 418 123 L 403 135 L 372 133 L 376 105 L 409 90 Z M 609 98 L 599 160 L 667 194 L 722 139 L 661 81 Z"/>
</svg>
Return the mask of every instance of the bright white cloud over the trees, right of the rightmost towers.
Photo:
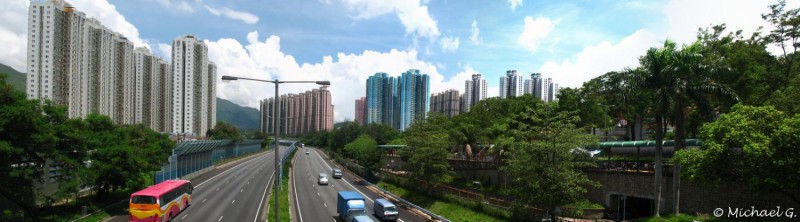
<svg viewBox="0 0 800 222">
<path fill-rule="evenodd" d="M 539 69 L 545 78 L 561 87 L 580 87 L 583 82 L 610 71 L 636 67 L 639 56 L 648 48 L 663 42 L 653 33 L 639 30 L 623 38 L 619 43 L 602 42 L 583 48 L 574 58 L 561 62 L 547 61 Z"/>
</svg>

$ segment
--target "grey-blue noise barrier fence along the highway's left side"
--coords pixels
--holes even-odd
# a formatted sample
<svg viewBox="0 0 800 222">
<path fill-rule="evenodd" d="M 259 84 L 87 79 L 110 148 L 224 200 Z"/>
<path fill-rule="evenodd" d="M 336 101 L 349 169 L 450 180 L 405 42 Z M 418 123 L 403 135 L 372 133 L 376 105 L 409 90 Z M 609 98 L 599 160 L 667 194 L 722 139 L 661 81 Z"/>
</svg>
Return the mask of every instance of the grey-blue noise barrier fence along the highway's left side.
<svg viewBox="0 0 800 222">
<path fill-rule="evenodd" d="M 172 149 L 169 163 L 155 173 L 155 183 L 169 179 L 191 179 L 214 169 L 214 162 L 256 152 L 262 140 L 196 140 L 178 143 Z"/>
</svg>

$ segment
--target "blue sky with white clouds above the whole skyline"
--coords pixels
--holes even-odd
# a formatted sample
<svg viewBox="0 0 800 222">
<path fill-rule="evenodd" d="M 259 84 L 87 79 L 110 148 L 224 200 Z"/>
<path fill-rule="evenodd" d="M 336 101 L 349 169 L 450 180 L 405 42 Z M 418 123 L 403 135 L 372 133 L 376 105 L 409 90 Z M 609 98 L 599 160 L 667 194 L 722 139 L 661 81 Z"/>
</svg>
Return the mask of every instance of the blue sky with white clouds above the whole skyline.
<svg viewBox="0 0 800 222">
<path fill-rule="evenodd" d="M 72 0 L 79 11 L 169 60 L 172 39 L 206 40 L 218 75 L 330 80 L 335 119 L 352 119 L 375 72 L 431 75 L 432 93 L 481 73 L 489 95 L 516 69 L 578 87 L 637 65 L 665 39 L 694 40 L 727 23 L 751 33 L 773 1 Z M 28 0 L 0 0 L 0 62 L 25 71 Z M 798 1 L 789 1 L 791 8 Z M 313 85 L 287 85 L 281 94 Z M 271 85 L 217 83 L 218 97 L 255 107 Z"/>
</svg>

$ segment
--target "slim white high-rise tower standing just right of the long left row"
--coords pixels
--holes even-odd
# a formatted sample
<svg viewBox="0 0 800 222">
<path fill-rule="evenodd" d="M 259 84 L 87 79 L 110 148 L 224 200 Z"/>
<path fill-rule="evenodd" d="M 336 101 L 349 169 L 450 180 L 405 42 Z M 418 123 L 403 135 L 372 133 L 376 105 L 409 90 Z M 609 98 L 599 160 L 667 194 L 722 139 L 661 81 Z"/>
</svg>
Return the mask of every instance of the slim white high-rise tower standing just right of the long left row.
<svg viewBox="0 0 800 222">
<path fill-rule="evenodd" d="M 209 72 L 206 44 L 193 35 L 173 40 L 172 70 L 172 132 L 205 135 L 214 126 L 208 117 L 216 102 L 208 94 L 216 73 Z"/>
</svg>

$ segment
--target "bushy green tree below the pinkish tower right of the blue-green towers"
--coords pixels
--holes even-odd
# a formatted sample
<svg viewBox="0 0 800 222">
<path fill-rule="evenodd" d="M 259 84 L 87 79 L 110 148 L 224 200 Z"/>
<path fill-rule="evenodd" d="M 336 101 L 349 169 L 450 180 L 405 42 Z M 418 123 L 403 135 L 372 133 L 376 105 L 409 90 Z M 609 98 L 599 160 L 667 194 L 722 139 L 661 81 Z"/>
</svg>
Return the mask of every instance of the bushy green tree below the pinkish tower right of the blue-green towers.
<svg viewBox="0 0 800 222">
<path fill-rule="evenodd" d="M 428 193 L 443 183 L 453 179 L 453 168 L 447 161 L 448 149 L 453 142 L 448 136 L 447 129 L 443 126 L 448 118 L 439 113 L 430 113 L 425 119 L 414 121 L 406 129 L 404 138 L 407 147 L 401 149 L 401 156 L 408 158 L 406 170 L 411 173 L 410 178 L 425 180 L 425 189 Z"/>
</svg>

